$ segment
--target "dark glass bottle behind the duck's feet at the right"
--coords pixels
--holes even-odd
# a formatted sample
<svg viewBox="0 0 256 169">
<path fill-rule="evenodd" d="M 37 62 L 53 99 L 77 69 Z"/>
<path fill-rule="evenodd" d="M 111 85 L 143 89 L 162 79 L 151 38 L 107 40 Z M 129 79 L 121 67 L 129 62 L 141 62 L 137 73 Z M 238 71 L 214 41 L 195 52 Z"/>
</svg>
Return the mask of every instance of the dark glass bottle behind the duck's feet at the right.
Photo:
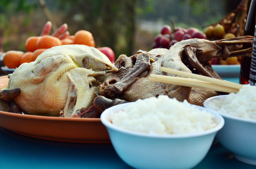
<svg viewBox="0 0 256 169">
<path fill-rule="evenodd" d="M 254 36 L 255 31 L 255 20 L 256 20 L 256 0 L 251 0 L 250 8 L 245 24 L 244 35 Z M 248 84 L 250 76 L 250 65 L 251 57 L 246 56 L 241 58 L 241 69 L 240 69 L 240 84 Z"/>
</svg>

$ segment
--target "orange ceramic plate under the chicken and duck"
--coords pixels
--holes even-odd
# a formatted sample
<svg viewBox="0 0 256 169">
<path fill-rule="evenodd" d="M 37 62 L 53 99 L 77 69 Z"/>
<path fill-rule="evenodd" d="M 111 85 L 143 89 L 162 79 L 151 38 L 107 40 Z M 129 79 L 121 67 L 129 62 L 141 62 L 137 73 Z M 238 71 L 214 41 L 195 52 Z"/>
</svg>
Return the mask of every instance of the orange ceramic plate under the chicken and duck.
<svg viewBox="0 0 256 169">
<path fill-rule="evenodd" d="M 7 76 L 0 77 L 2 88 Z M 110 143 L 109 134 L 99 118 L 60 118 L 0 111 L 0 127 L 37 139 L 72 143 Z"/>
</svg>

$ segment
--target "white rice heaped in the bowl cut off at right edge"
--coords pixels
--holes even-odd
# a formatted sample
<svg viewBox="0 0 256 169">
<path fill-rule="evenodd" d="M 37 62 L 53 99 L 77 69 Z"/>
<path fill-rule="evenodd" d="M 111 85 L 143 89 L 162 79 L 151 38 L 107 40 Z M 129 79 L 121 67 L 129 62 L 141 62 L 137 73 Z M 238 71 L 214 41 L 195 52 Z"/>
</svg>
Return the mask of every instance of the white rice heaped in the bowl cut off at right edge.
<svg viewBox="0 0 256 169">
<path fill-rule="evenodd" d="M 227 95 L 225 100 L 212 101 L 209 107 L 223 114 L 256 119 L 256 87 L 245 84 L 236 94 Z"/>
</svg>

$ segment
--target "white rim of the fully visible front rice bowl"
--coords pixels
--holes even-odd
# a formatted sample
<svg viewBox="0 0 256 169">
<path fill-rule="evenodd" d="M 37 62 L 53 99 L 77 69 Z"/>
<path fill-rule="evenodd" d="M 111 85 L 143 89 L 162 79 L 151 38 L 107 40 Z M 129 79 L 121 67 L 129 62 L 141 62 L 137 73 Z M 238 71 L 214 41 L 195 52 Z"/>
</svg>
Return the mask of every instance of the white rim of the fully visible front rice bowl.
<svg viewBox="0 0 256 169">
<path fill-rule="evenodd" d="M 128 105 L 128 104 L 132 104 L 132 103 L 123 103 L 123 104 Z M 198 137 L 198 136 L 209 135 L 209 134 L 212 134 L 214 132 L 218 132 L 224 126 L 224 118 L 222 117 L 222 115 L 218 114 L 214 110 L 211 110 L 211 109 L 206 110 L 206 108 L 204 108 L 202 106 L 198 106 L 198 107 L 201 107 L 202 109 L 205 109 L 207 112 L 210 112 L 211 114 L 213 114 L 215 116 L 215 118 L 218 117 L 220 119 L 217 126 L 215 126 L 214 128 L 211 128 L 209 130 L 202 131 L 202 132 L 196 132 L 196 133 L 192 133 L 192 134 L 173 134 L 173 135 L 172 134 L 163 134 L 163 135 L 161 135 L 161 134 L 147 134 L 147 133 L 143 133 L 143 132 L 125 130 L 124 128 L 116 127 L 114 124 L 111 124 L 109 121 L 106 120 L 107 115 L 109 115 L 109 113 L 111 112 L 112 109 L 115 109 L 118 106 L 123 106 L 123 104 L 112 106 L 112 107 L 106 109 L 104 112 L 102 112 L 101 122 L 107 128 L 111 128 L 112 130 L 119 131 L 119 132 L 122 132 L 122 133 L 128 134 L 128 135 L 159 138 L 159 139 L 181 139 L 181 138 Z M 197 105 L 192 105 L 192 106 L 197 106 Z"/>
</svg>

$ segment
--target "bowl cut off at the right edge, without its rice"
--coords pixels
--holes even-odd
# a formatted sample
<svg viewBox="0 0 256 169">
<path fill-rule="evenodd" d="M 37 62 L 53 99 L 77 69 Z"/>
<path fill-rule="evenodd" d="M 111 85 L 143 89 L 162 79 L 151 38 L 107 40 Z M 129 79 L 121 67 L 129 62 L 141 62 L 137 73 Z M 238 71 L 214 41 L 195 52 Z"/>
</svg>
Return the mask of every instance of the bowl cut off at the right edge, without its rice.
<svg viewBox="0 0 256 169">
<path fill-rule="evenodd" d="M 224 100 L 227 95 L 206 99 L 203 106 L 209 108 L 214 100 Z M 224 127 L 216 138 L 241 162 L 256 165 L 256 121 L 218 112 L 224 118 Z"/>
</svg>

